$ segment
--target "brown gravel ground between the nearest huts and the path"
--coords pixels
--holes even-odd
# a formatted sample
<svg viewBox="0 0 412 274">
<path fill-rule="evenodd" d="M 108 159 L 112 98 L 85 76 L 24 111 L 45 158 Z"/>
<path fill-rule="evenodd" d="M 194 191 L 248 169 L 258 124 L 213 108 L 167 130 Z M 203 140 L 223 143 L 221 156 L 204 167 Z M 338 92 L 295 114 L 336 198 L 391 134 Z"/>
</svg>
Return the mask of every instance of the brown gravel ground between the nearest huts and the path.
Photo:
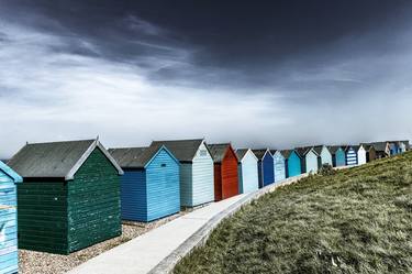
<svg viewBox="0 0 412 274">
<path fill-rule="evenodd" d="M 190 210 L 191 211 L 191 210 Z M 155 229 L 188 211 L 170 216 L 168 218 L 154 221 L 151 223 L 142 222 L 124 222 L 122 224 L 122 235 L 94 244 L 85 250 L 71 253 L 69 255 L 56 255 L 29 250 L 19 250 L 20 256 L 20 274 L 59 274 L 65 273 L 77 265 L 97 256 L 104 251 L 113 249 L 124 242 L 127 242 L 147 231 Z"/>
</svg>

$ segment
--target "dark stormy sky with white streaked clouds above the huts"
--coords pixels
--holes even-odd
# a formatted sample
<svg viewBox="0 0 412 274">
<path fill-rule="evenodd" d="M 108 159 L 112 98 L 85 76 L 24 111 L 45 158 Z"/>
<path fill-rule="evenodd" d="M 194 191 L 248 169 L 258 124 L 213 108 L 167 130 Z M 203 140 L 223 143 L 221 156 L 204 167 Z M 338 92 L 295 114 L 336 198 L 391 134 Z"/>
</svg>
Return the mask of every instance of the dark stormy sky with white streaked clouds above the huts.
<svg viewBox="0 0 412 274">
<path fill-rule="evenodd" d="M 26 141 L 410 139 L 412 2 L 0 0 L 0 158 Z"/>
</svg>

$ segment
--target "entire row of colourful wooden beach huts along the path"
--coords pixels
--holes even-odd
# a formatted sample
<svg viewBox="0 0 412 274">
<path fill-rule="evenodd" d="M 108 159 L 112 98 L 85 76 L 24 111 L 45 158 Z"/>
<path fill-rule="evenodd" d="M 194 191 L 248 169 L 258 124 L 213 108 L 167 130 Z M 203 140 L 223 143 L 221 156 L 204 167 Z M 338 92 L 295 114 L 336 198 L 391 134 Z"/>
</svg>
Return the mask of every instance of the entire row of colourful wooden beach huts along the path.
<svg viewBox="0 0 412 274">
<path fill-rule="evenodd" d="M 408 150 L 409 141 L 292 150 L 203 139 L 110 150 L 98 139 L 27 143 L 7 165 L 0 161 L 0 273 L 18 272 L 18 242 L 69 254 L 120 235 L 122 220 L 149 222 L 325 164 L 361 165 Z"/>
</svg>

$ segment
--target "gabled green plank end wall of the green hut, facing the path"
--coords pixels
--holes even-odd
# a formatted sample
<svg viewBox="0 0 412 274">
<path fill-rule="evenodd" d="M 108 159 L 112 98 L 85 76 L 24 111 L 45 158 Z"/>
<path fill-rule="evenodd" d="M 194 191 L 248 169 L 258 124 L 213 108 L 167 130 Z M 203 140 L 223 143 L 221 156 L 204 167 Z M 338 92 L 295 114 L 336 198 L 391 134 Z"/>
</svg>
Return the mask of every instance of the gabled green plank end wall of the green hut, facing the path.
<svg viewBox="0 0 412 274">
<path fill-rule="evenodd" d="M 67 185 L 68 253 L 122 233 L 120 178 L 99 149 Z"/>
</svg>

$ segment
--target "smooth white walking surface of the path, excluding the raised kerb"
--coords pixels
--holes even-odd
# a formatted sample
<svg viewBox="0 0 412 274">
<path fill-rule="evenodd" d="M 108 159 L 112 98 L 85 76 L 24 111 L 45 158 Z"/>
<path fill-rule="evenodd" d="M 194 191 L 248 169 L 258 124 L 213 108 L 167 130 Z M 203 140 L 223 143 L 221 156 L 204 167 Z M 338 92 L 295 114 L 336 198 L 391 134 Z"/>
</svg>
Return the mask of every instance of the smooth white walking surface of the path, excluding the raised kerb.
<svg viewBox="0 0 412 274">
<path fill-rule="evenodd" d="M 210 204 L 188 215 L 179 217 L 136 239 L 109 250 L 69 274 L 140 274 L 153 270 L 165 257 L 179 248 L 213 217 L 229 209 L 246 197 L 238 195 L 226 200 Z"/>
</svg>

